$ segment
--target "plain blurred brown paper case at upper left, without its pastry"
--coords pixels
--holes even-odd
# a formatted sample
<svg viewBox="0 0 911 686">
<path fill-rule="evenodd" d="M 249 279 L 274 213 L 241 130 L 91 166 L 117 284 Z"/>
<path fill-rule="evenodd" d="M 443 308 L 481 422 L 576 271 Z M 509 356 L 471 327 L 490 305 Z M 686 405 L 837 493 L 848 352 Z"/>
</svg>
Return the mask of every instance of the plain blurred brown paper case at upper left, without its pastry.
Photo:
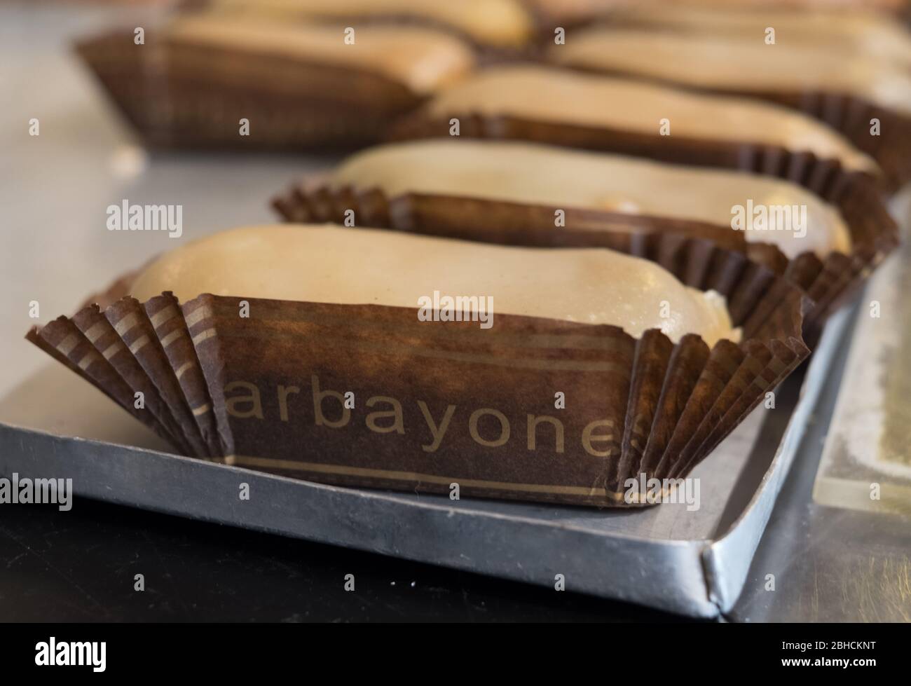
<svg viewBox="0 0 911 686">
<path fill-rule="evenodd" d="M 77 45 L 148 145 L 301 150 L 357 148 L 423 97 L 392 78 L 288 56 L 241 54 L 114 32 Z M 251 122 L 241 136 L 240 120 Z"/>
</svg>

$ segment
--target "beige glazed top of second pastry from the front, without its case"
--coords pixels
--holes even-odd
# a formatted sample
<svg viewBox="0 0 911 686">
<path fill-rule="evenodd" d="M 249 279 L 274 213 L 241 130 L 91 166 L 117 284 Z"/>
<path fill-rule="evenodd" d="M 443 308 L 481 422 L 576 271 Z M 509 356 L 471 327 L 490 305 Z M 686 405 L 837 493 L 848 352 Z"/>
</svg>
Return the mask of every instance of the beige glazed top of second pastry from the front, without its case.
<svg viewBox="0 0 911 686">
<path fill-rule="evenodd" d="M 850 254 L 851 238 L 831 205 L 789 181 L 742 172 L 661 164 L 530 143 L 431 140 L 373 148 L 346 159 L 326 179 L 335 188 L 506 200 L 557 208 L 610 210 L 732 225 L 732 208 L 806 208 L 803 231 L 746 230 L 747 241 L 794 258 L 812 251 Z"/>
</svg>

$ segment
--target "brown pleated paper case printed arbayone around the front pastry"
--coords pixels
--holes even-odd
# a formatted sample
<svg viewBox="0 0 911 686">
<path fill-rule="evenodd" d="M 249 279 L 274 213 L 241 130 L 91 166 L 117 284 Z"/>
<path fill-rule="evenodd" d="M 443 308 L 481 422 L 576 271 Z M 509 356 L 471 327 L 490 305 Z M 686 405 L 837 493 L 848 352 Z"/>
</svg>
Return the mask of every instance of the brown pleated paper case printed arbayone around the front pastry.
<svg viewBox="0 0 911 686">
<path fill-rule="evenodd" d="M 27 337 L 190 456 L 343 486 L 639 506 L 648 494 L 628 479 L 689 474 L 809 353 L 792 284 L 711 241 L 650 243 L 681 280 L 725 295 L 742 343 L 169 293 Z"/>
</svg>

